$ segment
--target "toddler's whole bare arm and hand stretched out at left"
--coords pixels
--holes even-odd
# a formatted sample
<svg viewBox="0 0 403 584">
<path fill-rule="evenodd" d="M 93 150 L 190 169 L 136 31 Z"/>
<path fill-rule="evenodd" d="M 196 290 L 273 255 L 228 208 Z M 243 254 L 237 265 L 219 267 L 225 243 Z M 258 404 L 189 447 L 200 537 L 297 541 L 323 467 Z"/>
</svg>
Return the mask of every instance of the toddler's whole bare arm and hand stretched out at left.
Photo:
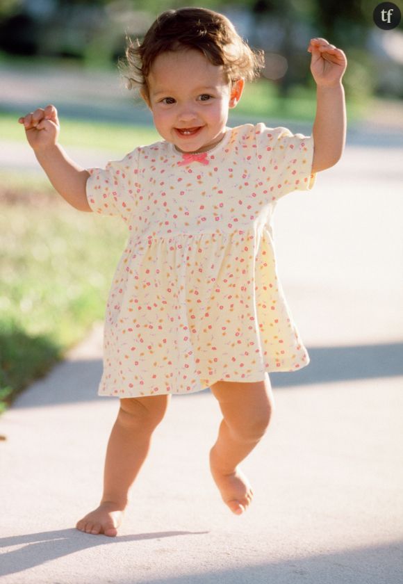
<svg viewBox="0 0 403 584">
<path fill-rule="evenodd" d="M 90 173 L 69 159 L 57 143 L 60 124 L 56 108 L 39 108 L 18 121 L 24 124 L 28 143 L 58 193 L 75 209 L 92 211 L 85 190 Z"/>
</svg>

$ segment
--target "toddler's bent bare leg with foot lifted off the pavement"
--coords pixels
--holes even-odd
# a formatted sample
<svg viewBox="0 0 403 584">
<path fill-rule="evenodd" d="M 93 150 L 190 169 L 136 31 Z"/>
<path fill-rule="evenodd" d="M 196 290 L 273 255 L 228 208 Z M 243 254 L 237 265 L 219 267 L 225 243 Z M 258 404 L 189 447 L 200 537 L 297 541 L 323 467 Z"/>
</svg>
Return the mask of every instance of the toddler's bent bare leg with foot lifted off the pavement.
<svg viewBox="0 0 403 584">
<path fill-rule="evenodd" d="M 231 511 L 242 514 L 253 491 L 238 464 L 247 457 L 268 428 L 274 400 L 270 380 L 254 383 L 219 381 L 211 391 L 224 418 L 210 451 L 211 474 L 222 500 Z"/>
</svg>

